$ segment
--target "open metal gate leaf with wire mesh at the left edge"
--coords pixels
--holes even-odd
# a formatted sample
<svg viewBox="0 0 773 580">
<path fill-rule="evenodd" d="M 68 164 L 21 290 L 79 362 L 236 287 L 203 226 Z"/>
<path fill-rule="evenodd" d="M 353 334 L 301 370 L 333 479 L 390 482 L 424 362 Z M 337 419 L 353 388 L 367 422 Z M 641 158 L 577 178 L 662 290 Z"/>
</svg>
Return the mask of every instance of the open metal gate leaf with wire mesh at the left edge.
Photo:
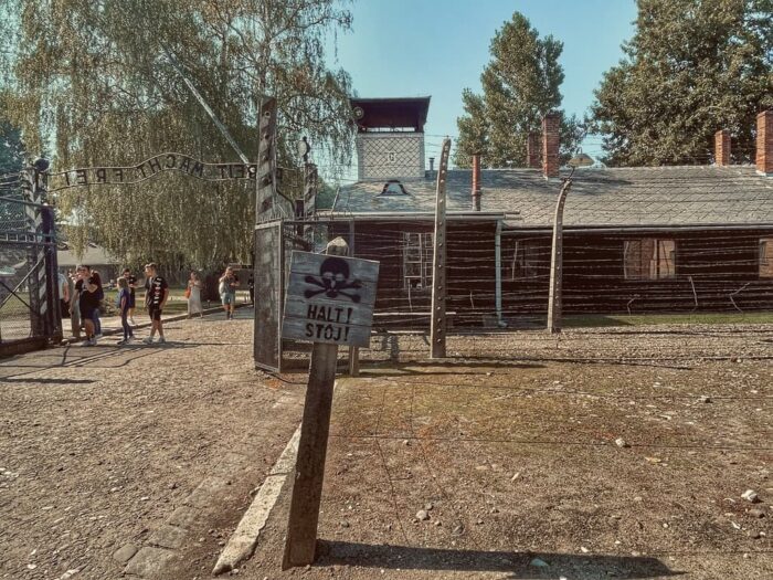
<svg viewBox="0 0 773 580">
<path fill-rule="evenodd" d="M 0 177 L 0 356 L 62 339 L 53 209 L 24 176 Z"/>
</svg>

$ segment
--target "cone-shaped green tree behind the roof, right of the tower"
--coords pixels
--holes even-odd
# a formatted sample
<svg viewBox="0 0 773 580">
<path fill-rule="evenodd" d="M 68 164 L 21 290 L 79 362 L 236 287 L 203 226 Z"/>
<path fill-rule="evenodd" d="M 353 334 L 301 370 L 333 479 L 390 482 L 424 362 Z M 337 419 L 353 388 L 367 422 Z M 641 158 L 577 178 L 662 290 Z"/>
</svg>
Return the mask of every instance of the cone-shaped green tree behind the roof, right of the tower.
<svg viewBox="0 0 773 580">
<path fill-rule="evenodd" d="M 454 154 L 458 167 L 469 167 L 475 154 L 481 155 L 484 167 L 526 165 L 528 133 L 539 130 L 542 116 L 561 106 L 562 51 L 563 43 L 552 35 L 540 39 L 519 12 L 496 32 L 491 61 L 480 75 L 483 94 L 469 88 L 462 94 L 465 115 L 457 119 Z M 568 159 L 582 130 L 574 117 L 562 115 L 561 125 L 561 152 Z"/>
</svg>

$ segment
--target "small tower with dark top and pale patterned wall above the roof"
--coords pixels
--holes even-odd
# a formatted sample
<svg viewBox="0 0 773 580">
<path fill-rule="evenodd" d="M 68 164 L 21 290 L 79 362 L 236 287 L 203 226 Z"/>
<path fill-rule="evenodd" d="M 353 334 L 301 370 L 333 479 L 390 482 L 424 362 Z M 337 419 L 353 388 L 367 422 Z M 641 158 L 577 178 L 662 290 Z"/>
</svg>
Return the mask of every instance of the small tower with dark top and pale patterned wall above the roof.
<svg viewBox="0 0 773 580">
<path fill-rule="evenodd" d="M 430 97 L 352 98 L 357 177 L 424 177 L 424 124 Z"/>
</svg>

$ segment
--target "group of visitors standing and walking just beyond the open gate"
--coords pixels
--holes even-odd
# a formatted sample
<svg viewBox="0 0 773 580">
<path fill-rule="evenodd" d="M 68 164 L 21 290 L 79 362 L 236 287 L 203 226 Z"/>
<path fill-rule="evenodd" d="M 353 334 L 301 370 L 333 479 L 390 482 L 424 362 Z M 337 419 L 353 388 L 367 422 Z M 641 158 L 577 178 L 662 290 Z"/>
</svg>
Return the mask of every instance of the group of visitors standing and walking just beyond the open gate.
<svg viewBox="0 0 773 580">
<path fill-rule="evenodd" d="M 83 342 L 83 346 L 96 346 L 97 339 L 102 338 L 99 310 L 105 298 L 102 278 L 99 273 L 89 266 L 78 265 L 73 274 L 73 282 L 74 291 L 71 293 L 67 278 L 64 275 L 60 275 L 62 315 L 72 319 L 74 336 L 80 336 L 80 329 L 83 325 L 86 334 L 86 340 Z M 250 282 L 252 299 L 252 278 Z M 131 274 L 129 268 L 125 268 L 121 276 L 116 281 L 116 285 L 118 287 L 116 306 L 120 314 L 120 325 L 124 331 L 124 338 L 118 344 L 129 345 L 135 339 L 133 326 L 136 326 L 134 313 L 136 308 L 137 277 Z M 239 276 L 232 267 L 226 267 L 223 275 L 220 276 L 218 291 L 227 320 L 233 319 L 236 305 L 236 288 L 239 286 Z M 194 315 L 204 316 L 201 291 L 202 283 L 199 274 L 191 272 L 186 289 L 189 318 Z M 158 265 L 155 263 L 146 264 L 145 308 L 151 321 L 150 335 L 142 340 L 146 345 L 153 344 L 153 341 L 163 345 L 167 341 L 163 336 L 161 315 L 168 299 L 169 284 L 159 275 Z M 153 340 L 156 335 L 158 335 L 158 339 Z"/>
</svg>

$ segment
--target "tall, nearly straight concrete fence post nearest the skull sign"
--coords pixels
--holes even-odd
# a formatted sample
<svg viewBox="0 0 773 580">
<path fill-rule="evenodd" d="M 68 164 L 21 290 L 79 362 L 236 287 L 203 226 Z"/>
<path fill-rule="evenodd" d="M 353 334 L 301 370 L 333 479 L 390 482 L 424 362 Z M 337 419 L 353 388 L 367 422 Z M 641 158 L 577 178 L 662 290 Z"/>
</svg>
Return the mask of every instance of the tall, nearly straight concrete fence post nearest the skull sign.
<svg viewBox="0 0 773 580">
<path fill-rule="evenodd" d="M 430 344 L 432 358 L 445 358 L 446 334 L 446 223 L 445 190 L 448 172 L 451 139 L 443 140 L 441 165 L 435 188 L 435 239 L 432 250 L 432 310 L 430 314 Z"/>
</svg>

